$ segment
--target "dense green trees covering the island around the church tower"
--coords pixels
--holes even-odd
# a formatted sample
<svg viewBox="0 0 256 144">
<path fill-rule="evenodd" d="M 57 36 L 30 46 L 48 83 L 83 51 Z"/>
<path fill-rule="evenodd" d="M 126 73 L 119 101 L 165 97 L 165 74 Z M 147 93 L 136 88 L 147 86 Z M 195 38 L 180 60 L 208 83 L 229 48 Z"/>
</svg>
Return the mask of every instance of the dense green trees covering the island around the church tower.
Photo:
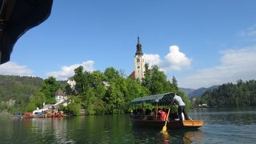
<svg viewBox="0 0 256 144">
<path fill-rule="evenodd" d="M 84 71 L 79 66 L 74 73 L 76 86 L 73 94 L 81 100 L 81 108 L 86 110 L 86 114 L 124 113 L 129 110 L 130 101 L 134 98 L 177 91 L 158 66 L 146 71 L 143 82 L 123 78 L 121 72 L 114 67 L 108 67 L 102 73 L 98 70 Z M 66 88 L 66 91 L 70 91 L 69 86 Z"/>
</svg>

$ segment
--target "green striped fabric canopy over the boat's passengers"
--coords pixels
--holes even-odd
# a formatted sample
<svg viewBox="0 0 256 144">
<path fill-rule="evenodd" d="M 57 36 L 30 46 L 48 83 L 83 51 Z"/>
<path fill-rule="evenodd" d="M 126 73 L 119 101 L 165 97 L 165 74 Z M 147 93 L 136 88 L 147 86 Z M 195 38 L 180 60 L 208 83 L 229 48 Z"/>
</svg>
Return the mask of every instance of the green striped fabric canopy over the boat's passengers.
<svg viewBox="0 0 256 144">
<path fill-rule="evenodd" d="M 130 102 L 130 104 L 136 105 L 139 103 L 152 103 L 152 104 L 166 106 L 166 105 L 169 105 L 171 102 L 173 102 L 174 95 L 175 95 L 174 93 L 166 93 L 166 94 L 155 94 L 155 95 L 150 95 L 146 97 L 135 98 Z"/>
</svg>

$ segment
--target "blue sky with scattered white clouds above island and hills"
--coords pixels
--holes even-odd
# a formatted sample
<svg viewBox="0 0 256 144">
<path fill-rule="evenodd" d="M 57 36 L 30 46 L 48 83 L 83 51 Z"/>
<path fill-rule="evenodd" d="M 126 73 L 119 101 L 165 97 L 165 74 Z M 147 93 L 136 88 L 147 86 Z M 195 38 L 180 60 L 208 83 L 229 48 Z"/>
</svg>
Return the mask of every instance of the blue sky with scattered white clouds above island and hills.
<svg viewBox="0 0 256 144">
<path fill-rule="evenodd" d="M 129 76 L 139 35 L 146 62 L 178 87 L 256 78 L 254 0 L 54 0 L 50 18 L 22 35 L 0 74 L 66 80 L 113 66 Z"/>
</svg>

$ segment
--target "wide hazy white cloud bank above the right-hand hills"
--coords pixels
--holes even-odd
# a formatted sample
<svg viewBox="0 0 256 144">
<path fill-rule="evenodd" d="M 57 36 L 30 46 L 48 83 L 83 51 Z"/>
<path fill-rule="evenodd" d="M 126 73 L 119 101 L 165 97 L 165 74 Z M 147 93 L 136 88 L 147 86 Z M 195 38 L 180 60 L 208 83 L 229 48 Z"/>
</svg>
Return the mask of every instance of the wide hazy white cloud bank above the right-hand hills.
<svg viewBox="0 0 256 144">
<path fill-rule="evenodd" d="M 180 78 L 181 87 L 199 88 L 256 78 L 256 46 L 224 50 L 218 66 L 198 70 L 187 78 Z"/>
</svg>

